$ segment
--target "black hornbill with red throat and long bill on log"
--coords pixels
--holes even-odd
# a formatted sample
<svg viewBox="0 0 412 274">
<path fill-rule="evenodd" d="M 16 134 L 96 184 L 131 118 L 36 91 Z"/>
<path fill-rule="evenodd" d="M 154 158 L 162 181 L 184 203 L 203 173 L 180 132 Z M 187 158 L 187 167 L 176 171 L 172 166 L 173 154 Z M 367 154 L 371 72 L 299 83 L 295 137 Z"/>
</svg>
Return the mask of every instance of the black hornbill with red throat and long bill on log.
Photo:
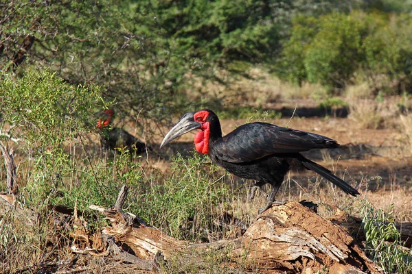
<svg viewBox="0 0 412 274">
<path fill-rule="evenodd" d="M 194 136 L 198 152 L 209 154 L 212 162 L 229 173 L 257 181 L 251 188 L 250 199 L 253 199 L 255 190 L 264 184 L 273 186 L 266 206 L 259 210 L 259 214 L 275 202 L 277 190 L 289 170 L 310 169 L 339 186 L 347 194 L 359 195 L 358 190 L 333 175 L 331 171 L 299 153 L 310 149 L 339 147 L 336 140 L 269 123 L 241 125 L 222 137 L 218 116 L 205 109 L 184 114 L 181 121 L 166 134 L 160 147 L 194 129 L 201 129 Z"/>
</svg>

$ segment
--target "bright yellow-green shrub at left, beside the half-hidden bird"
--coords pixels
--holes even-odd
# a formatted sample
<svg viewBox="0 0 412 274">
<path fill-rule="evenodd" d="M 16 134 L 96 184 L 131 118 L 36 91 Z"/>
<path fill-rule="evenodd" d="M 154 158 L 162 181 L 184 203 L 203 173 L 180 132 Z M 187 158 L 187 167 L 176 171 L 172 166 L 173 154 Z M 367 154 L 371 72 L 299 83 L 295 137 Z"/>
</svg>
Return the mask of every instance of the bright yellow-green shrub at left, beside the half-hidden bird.
<svg viewBox="0 0 412 274">
<path fill-rule="evenodd" d="M 63 181 L 74 180 L 75 151 L 67 146 L 84 145 L 94 127 L 89 123 L 93 112 L 106 104 L 97 86 L 71 86 L 49 71 L 30 69 L 21 78 L 1 78 L 2 132 L 19 140 L 22 152 L 30 155 L 27 191 L 34 203 L 43 202 Z"/>
</svg>

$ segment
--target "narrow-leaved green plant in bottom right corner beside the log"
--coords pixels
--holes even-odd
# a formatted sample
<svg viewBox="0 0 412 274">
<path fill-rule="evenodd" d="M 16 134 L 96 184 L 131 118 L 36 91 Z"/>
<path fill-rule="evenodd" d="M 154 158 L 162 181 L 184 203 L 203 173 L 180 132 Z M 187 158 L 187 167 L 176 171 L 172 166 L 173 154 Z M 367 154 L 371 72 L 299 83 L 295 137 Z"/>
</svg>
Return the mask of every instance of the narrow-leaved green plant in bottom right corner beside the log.
<svg viewBox="0 0 412 274">
<path fill-rule="evenodd" d="M 366 253 L 386 273 L 411 273 L 412 253 L 402 247 L 400 234 L 393 219 L 393 207 L 388 213 L 376 210 L 369 201 L 362 208 L 362 223 L 366 236 Z M 391 240 L 391 242 L 388 242 Z"/>
</svg>

